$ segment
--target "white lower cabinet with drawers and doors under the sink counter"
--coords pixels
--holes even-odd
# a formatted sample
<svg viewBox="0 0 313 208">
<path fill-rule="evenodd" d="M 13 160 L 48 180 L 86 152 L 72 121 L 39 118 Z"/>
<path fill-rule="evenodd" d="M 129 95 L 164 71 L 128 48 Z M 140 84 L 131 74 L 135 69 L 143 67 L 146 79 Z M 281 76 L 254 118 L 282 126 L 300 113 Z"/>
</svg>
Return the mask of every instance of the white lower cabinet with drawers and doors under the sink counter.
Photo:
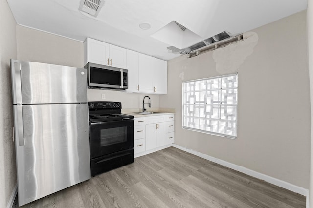
<svg viewBox="0 0 313 208">
<path fill-rule="evenodd" d="M 175 142 L 174 114 L 134 119 L 134 157 L 167 148 Z"/>
</svg>

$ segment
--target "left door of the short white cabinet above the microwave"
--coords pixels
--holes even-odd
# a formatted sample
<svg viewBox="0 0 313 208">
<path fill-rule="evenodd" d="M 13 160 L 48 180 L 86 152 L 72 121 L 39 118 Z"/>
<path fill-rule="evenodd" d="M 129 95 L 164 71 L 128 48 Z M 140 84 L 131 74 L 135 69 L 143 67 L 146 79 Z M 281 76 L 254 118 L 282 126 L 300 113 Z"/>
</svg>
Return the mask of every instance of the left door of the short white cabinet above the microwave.
<svg viewBox="0 0 313 208">
<path fill-rule="evenodd" d="M 109 60 L 109 44 L 94 39 L 86 39 L 86 61 L 90 63 L 97 63 L 101 65 L 108 65 Z"/>
</svg>

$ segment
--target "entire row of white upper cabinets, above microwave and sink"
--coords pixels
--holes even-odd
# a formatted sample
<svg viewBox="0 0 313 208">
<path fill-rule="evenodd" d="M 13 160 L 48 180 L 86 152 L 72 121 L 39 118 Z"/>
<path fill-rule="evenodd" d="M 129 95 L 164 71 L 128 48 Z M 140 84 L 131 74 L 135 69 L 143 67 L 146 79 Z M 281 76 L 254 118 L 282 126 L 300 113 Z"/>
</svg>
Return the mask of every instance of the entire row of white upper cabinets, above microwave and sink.
<svg viewBox="0 0 313 208">
<path fill-rule="evenodd" d="M 86 38 L 84 48 L 84 64 L 128 69 L 127 92 L 167 93 L 167 61 L 91 38 Z"/>
</svg>

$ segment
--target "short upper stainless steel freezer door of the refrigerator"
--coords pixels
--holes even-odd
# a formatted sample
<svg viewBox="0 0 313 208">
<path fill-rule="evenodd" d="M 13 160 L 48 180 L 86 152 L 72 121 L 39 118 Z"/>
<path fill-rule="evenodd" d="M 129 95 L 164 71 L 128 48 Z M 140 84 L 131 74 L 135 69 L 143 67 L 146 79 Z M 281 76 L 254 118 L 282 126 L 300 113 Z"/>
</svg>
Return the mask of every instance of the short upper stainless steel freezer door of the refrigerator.
<svg viewBox="0 0 313 208">
<path fill-rule="evenodd" d="M 86 103 L 87 72 L 11 59 L 13 104 Z"/>
</svg>

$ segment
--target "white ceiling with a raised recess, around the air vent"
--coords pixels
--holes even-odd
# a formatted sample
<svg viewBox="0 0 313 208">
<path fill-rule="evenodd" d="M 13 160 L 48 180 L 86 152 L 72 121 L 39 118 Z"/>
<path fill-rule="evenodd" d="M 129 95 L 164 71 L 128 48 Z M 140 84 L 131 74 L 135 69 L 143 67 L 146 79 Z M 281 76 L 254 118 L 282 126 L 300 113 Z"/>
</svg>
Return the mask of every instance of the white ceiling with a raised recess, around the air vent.
<svg viewBox="0 0 313 208">
<path fill-rule="evenodd" d="M 163 60 L 223 31 L 235 36 L 307 8 L 307 0 L 105 0 L 97 17 L 78 10 L 81 0 L 7 0 L 19 25 L 78 41 L 86 37 Z M 194 36 L 166 30 L 177 21 Z M 151 28 L 142 30 L 140 23 Z M 181 30 L 182 31 L 182 30 Z M 180 33 L 182 33 L 180 31 Z"/>
</svg>

